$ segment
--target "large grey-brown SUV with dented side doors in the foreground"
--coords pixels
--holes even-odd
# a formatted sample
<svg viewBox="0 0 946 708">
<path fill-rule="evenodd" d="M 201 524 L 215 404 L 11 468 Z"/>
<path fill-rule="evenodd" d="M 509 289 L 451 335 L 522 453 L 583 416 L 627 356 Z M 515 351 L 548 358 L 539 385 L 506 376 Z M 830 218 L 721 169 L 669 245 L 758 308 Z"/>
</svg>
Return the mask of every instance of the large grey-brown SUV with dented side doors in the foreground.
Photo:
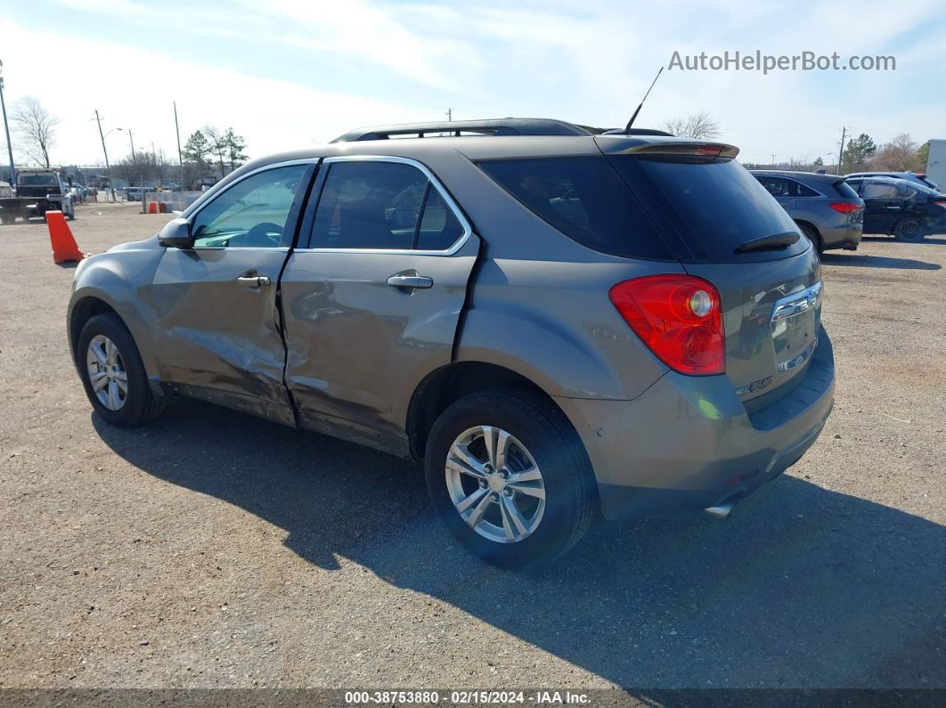
<svg viewBox="0 0 946 708">
<path fill-rule="evenodd" d="M 424 459 L 507 567 L 599 509 L 726 515 L 834 388 L 815 249 L 737 152 L 504 119 L 256 160 L 79 264 L 79 375 L 116 425 L 176 392 Z"/>
</svg>

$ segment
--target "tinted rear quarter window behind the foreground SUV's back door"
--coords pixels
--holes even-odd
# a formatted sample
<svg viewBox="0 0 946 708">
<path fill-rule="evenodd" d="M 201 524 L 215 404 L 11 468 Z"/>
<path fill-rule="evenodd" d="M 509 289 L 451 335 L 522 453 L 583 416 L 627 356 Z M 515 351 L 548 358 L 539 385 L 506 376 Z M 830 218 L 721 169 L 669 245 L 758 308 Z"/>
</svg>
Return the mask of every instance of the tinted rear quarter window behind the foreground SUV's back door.
<svg viewBox="0 0 946 708">
<path fill-rule="evenodd" d="M 604 157 L 489 160 L 482 170 L 535 215 L 583 246 L 673 260 L 654 223 Z"/>
</svg>

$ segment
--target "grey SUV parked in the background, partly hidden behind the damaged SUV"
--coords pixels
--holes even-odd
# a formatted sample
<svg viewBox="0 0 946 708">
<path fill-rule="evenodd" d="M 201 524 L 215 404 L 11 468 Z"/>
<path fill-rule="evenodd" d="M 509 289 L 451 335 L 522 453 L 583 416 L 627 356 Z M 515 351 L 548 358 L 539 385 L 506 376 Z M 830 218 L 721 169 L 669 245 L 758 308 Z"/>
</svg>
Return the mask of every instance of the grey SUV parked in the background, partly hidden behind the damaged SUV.
<svg viewBox="0 0 946 708">
<path fill-rule="evenodd" d="M 861 242 L 864 202 L 837 175 L 820 172 L 751 170 L 775 197 L 818 252 L 857 250 Z"/>
</svg>

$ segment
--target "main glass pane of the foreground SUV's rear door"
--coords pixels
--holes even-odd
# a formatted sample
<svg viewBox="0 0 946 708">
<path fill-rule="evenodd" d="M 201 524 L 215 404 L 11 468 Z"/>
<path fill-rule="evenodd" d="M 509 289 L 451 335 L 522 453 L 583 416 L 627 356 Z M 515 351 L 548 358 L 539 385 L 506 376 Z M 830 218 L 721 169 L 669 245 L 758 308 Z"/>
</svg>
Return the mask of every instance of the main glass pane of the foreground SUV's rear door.
<svg viewBox="0 0 946 708">
<path fill-rule="evenodd" d="M 427 185 L 427 176 L 410 164 L 331 164 L 309 247 L 412 248 Z"/>
</svg>

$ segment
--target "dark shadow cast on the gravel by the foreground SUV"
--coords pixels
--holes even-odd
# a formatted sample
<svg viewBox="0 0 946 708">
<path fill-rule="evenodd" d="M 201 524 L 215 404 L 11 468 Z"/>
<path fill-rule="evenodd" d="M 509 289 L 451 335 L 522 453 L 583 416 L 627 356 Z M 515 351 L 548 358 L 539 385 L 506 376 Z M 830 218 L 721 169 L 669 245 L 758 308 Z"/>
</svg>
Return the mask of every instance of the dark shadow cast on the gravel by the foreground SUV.
<svg viewBox="0 0 946 708">
<path fill-rule="evenodd" d="M 726 522 L 599 524 L 536 576 L 467 556 L 397 458 L 196 402 L 140 430 L 93 422 L 308 562 L 350 559 L 622 686 L 946 685 L 946 528 L 797 476 Z"/>
</svg>

